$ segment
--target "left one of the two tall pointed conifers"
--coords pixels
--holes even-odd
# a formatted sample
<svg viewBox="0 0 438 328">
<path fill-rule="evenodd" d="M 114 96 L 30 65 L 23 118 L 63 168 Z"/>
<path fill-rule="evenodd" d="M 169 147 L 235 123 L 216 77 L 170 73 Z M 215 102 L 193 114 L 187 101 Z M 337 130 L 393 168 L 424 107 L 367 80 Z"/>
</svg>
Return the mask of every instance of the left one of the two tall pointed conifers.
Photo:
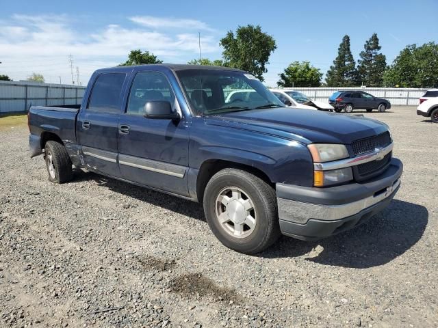
<svg viewBox="0 0 438 328">
<path fill-rule="evenodd" d="M 355 59 L 350 50 L 350 37 L 342 38 L 337 57 L 333 61 L 326 75 L 326 83 L 329 87 L 354 87 L 359 84 Z"/>
</svg>

